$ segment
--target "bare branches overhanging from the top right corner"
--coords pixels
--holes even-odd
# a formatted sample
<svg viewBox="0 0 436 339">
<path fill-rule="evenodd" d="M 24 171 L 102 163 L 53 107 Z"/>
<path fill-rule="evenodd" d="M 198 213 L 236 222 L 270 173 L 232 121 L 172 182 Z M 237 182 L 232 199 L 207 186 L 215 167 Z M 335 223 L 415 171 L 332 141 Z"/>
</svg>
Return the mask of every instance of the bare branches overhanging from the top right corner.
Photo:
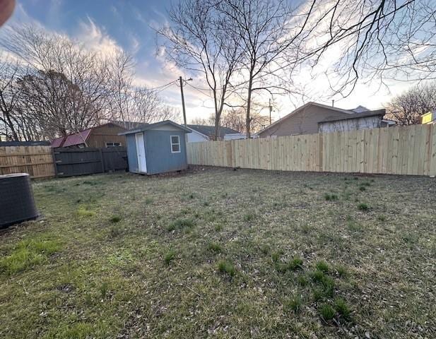
<svg viewBox="0 0 436 339">
<path fill-rule="evenodd" d="M 436 78 L 433 0 L 311 0 L 301 14 L 307 20 L 302 48 L 288 65 L 328 61 L 324 71 L 334 93 L 346 97 L 359 80 Z"/>
</svg>

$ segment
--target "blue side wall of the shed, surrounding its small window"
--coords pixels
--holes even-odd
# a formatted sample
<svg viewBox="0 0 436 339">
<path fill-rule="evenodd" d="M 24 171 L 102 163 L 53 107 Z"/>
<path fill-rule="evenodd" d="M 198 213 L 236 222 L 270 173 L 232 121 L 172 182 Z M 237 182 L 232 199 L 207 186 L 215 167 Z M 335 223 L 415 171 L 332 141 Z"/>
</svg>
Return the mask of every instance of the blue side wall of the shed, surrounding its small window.
<svg viewBox="0 0 436 339">
<path fill-rule="evenodd" d="M 184 131 L 148 130 L 146 143 L 147 173 L 173 172 L 187 168 L 187 150 Z M 179 136 L 180 153 L 171 153 L 170 136 Z"/>
</svg>

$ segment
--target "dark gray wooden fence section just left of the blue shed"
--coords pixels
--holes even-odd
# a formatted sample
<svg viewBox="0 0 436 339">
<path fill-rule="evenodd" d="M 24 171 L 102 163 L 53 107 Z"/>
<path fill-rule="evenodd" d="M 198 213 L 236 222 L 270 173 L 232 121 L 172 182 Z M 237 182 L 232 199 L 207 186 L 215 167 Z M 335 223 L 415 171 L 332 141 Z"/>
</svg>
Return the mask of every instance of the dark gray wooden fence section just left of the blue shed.
<svg viewBox="0 0 436 339">
<path fill-rule="evenodd" d="M 54 148 L 53 158 L 57 177 L 113 172 L 127 168 L 124 147 Z"/>
</svg>

